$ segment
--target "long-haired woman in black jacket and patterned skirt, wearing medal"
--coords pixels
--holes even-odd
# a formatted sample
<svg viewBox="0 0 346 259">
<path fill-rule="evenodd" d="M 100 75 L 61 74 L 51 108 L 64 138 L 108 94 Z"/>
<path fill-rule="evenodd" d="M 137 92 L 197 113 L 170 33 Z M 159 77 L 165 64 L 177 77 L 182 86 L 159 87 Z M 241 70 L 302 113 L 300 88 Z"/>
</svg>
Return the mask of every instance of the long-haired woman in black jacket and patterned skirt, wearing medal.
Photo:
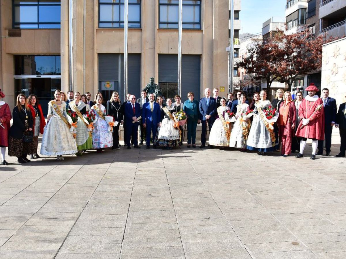
<svg viewBox="0 0 346 259">
<path fill-rule="evenodd" d="M 17 106 L 13 109 L 12 117 L 13 124 L 8 137 L 8 154 L 18 157 L 19 163 L 28 163 L 30 160 L 26 156 L 35 153 L 34 139 L 32 142 L 24 142 L 23 136 L 32 135 L 34 121 L 24 94 L 17 96 Z"/>
</svg>

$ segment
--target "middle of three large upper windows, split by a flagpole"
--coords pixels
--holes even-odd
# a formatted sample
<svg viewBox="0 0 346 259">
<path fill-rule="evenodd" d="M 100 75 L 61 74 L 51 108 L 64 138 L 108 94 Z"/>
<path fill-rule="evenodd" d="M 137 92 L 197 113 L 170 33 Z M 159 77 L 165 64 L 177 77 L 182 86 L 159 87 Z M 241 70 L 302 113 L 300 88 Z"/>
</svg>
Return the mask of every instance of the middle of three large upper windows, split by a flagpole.
<svg viewBox="0 0 346 259">
<path fill-rule="evenodd" d="M 140 28 L 140 0 L 128 3 L 128 27 Z M 99 0 L 99 28 L 124 28 L 124 0 Z"/>
</svg>

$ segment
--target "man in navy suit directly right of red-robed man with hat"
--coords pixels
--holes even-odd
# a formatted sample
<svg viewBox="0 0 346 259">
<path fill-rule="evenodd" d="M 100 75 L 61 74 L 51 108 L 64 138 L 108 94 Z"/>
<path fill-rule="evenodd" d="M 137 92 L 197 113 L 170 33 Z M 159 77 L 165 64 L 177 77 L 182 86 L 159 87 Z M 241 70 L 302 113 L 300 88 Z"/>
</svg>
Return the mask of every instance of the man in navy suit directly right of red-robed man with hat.
<svg viewBox="0 0 346 259">
<path fill-rule="evenodd" d="M 328 88 L 322 89 L 322 102 L 325 111 L 325 141 L 326 141 L 326 155 L 330 156 L 331 147 L 331 132 L 336 120 L 336 100 L 329 97 Z M 323 154 L 323 140 L 318 141 L 317 155 Z"/>
</svg>

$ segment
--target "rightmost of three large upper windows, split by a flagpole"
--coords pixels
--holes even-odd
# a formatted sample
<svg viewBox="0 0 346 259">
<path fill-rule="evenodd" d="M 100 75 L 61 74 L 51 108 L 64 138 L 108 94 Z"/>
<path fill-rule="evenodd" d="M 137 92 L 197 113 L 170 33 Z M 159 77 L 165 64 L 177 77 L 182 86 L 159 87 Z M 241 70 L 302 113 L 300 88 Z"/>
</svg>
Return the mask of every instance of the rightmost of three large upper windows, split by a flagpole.
<svg viewBox="0 0 346 259">
<path fill-rule="evenodd" d="M 160 0 L 159 28 L 178 28 L 179 0 Z M 201 1 L 183 0 L 183 29 L 201 29 Z"/>
</svg>

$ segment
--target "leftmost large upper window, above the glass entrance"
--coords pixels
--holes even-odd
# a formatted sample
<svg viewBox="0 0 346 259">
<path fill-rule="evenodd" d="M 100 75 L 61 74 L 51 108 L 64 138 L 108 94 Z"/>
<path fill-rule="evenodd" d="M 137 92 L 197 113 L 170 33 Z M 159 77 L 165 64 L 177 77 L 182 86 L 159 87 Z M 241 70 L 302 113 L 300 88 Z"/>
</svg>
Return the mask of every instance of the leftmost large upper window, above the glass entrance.
<svg viewBox="0 0 346 259">
<path fill-rule="evenodd" d="M 60 0 L 12 0 L 13 28 L 60 28 Z"/>
</svg>

